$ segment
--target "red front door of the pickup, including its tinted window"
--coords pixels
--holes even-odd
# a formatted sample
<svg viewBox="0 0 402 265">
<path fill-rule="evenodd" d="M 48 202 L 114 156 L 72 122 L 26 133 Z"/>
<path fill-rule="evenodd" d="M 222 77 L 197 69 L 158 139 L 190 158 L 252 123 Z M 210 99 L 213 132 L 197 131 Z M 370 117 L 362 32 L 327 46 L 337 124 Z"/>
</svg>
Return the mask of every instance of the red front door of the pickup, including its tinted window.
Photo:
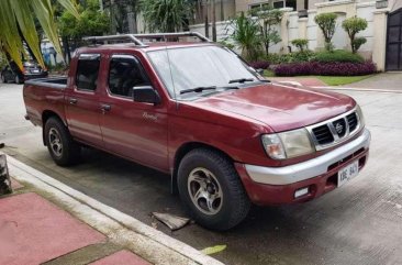
<svg viewBox="0 0 402 265">
<path fill-rule="evenodd" d="M 168 172 L 167 110 L 164 103 L 134 102 L 135 86 L 150 86 L 133 55 L 113 55 L 107 93 L 102 95 L 101 130 L 104 147 L 143 165 Z"/>
</svg>

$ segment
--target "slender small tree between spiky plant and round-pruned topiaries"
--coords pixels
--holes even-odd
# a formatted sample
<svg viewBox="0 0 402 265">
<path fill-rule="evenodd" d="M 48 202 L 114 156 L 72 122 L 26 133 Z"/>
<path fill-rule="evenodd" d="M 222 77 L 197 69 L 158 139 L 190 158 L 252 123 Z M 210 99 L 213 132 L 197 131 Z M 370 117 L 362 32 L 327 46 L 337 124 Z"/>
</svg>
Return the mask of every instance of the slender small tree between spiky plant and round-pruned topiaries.
<svg viewBox="0 0 402 265">
<path fill-rule="evenodd" d="M 269 47 L 282 41 L 278 30 L 275 26 L 281 22 L 283 11 L 272 9 L 270 5 L 268 5 L 253 10 L 250 14 L 253 16 L 257 16 L 263 22 L 263 25 L 260 25 L 260 37 L 265 53 L 268 55 Z"/>
</svg>

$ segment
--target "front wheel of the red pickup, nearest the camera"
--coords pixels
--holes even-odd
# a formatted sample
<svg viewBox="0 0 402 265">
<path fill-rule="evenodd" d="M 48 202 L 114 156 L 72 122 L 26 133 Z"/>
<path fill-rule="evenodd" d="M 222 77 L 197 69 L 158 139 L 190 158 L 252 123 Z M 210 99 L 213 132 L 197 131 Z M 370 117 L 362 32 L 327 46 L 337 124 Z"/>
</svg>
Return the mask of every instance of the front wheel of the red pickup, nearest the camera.
<svg viewBox="0 0 402 265">
<path fill-rule="evenodd" d="M 199 181 L 194 178 L 200 178 L 194 176 L 201 176 L 204 181 L 210 181 L 206 188 L 198 185 Z M 212 186 L 212 194 L 209 185 Z M 189 214 L 197 223 L 208 229 L 220 231 L 232 229 L 247 217 L 250 208 L 250 201 L 233 163 L 213 150 L 193 150 L 182 158 L 178 169 L 178 189 Z M 201 192 L 204 196 L 194 198 Z M 220 198 L 220 194 L 221 200 L 216 199 Z M 215 198 L 210 207 L 205 196 Z M 211 199 L 209 200 L 211 202 Z"/>
</svg>

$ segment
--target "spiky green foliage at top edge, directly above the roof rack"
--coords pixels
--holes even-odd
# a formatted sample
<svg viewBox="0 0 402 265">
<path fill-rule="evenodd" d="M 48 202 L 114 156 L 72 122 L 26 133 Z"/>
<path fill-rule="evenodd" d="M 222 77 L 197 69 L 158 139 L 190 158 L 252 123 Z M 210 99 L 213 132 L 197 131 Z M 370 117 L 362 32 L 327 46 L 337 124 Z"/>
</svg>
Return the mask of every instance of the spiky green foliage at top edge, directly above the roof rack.
<svg viewBox="0 0 402 265">
<path fill-rule="evenodd" d="M 149 31 L 177 32 L 188 24 L 193 12 L 193 1 L 141 0 L 139 10 Z"/>
</svg>

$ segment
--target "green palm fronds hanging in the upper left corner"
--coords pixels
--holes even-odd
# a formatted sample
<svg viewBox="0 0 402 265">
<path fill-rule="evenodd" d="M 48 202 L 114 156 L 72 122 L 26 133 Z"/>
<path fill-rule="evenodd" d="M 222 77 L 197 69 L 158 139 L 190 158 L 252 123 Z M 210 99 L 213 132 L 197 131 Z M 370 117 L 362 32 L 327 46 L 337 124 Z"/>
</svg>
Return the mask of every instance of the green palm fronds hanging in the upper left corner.
<svg viewBox="0 0 402 265">
<path fill-rule="evenodd" d="M 74 0 L 57 0 L 57 2 L 78 18 Z M 54 7 L 51 0 L 0 1 L 0 53 L 5 53 L 21 69 L 21 54 L 25 54 L 23 40 L 37 62 L 42 66 L 45 65 L 41 54 L 40 37 L 35 29 L 35 19 L 54 44 L 56 52 L 62 54 L 54 19 Z"/>
</svg>

